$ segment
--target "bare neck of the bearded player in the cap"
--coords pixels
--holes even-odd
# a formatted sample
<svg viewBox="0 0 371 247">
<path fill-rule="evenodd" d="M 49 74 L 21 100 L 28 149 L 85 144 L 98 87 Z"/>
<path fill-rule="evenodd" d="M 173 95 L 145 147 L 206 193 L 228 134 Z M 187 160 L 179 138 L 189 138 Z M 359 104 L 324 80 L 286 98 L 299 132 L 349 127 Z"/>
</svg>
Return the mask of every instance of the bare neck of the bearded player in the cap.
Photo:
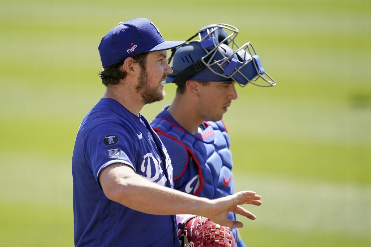
<svg viewBox="0 0 371 247">
<path fill-rule="evenodd" d="M 103 98 L 114 99 L 132 114 L 139 116 L 139 112 L 142 110 L 144 103 L 142 103 L 141 97 L 138 95 L 135 88 L 125 87 L 124 84 L 125 83 L 120 82 L 117 85 L 107 86 Z"/>
</svg>

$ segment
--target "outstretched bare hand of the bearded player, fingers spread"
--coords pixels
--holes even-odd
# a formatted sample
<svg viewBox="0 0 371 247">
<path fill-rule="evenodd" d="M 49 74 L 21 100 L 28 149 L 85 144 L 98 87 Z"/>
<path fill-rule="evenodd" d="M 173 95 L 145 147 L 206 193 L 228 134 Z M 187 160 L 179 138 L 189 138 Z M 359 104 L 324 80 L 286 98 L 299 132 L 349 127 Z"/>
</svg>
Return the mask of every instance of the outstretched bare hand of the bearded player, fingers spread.
<svg viewBox="0 0 371 247">
<path fill-rule="evenodd" d="M 254 214 L 250 213 L 243 207 L 238 205 L 242 204 L 253 204 L 260 206 L 262 204 L 260 196 L 256 195 L 253 191 L 240 191 L 230 196 L 221 197 L 211 201 L 212 206 L 209 208 L 209 211 L 205 213 L 205 217 L 214 221 L 221 226 L 227 226 L 231 228 L 243 227 L 242 222 L 236 220 L 228 219 L 228 212 L 240 214 L 249 218 L 250 220 L 255 220 L 256 217 Z"/>
</svg>

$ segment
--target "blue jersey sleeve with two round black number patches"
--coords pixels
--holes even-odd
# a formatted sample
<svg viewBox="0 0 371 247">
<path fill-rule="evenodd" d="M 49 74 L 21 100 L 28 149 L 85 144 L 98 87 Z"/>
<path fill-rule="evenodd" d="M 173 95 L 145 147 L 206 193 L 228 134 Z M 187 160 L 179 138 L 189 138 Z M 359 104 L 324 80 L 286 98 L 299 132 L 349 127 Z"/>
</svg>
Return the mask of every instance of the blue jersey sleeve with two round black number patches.
<svg viewBox="0 0 371 247">
<path fill-rule="evenodd" d="M 137 172 L 137 139 L 130 128 L 112 122 L 101 123 L 89 131 L 83 142 L 84 156 L 98 184 L 101 171 L 114 163 L 123 163 Z"/>
</svg>

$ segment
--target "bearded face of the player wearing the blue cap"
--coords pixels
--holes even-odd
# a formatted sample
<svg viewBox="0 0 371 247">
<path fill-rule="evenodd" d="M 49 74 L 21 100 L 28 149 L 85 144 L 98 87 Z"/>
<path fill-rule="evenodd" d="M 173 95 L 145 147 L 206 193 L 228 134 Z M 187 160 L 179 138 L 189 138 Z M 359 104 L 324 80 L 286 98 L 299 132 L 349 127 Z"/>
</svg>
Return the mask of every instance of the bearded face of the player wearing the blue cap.
<svg viewBox="0 0 371 247">
<path fill-rule="evenodd" d="M 135 88 L 144 104 L 151 104 L 165 97 L 161 82 L 166 79 L 167 74 L 173 73 L 166 56 L 166 51 L 153 51 L 147 55 L 145 68 L 142 68 Z"/>
</svg>

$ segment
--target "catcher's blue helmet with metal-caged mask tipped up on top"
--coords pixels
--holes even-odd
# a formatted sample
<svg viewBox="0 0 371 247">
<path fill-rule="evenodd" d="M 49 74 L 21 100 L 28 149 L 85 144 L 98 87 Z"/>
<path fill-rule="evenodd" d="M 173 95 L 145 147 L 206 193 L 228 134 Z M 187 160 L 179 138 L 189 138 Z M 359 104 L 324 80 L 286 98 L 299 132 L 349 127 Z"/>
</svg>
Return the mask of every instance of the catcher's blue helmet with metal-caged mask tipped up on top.
<svg viewBox="0 0 371 247">
<path fill-rule="evenodd" d="M 186 44 L 171 50 L 168 63 L 173 59 L 173 73 L 167 76 L 166 83 L 235 81 L 241 87 L 247 83 L 261 87 L 275 86 L 276 81 L 263 69 L 252 44 L 247 42 L 239 47 L 234 41 L 237 34 L 238 29 L 228 24 L 211 24 L 201 28 Z M 190 41 L 196 36 L 199 40 Z M 256 83 L 259 78 L 262 80 Z"/>
</svg>

